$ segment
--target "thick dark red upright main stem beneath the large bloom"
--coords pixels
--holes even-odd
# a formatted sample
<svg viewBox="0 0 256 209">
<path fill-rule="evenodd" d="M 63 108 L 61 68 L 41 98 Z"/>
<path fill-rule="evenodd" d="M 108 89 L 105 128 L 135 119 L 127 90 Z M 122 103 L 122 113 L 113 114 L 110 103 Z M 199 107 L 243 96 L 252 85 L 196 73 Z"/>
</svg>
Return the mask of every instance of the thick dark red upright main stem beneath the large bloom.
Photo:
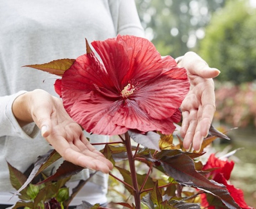
<svg viewBox="0 0 256 209">
<path fill-rule="evenodd" d="M 140 191 L 138 187 L 138 181 L 137 181 L 137 173 L 135 169 L 135 163 L 133 159 L 133 154 L 132 154 L 132 145 L 130 142 L 130 136 L 128 132 L 125 133 L 125 146 L 127 150 L 127 156 L 128 156 L 128 161 L 129 161 L 129 166 L 130 166 L 130 173 L 132 177 L 132 183 L 134 187 L 134 200 L 135 200 L 135 206 L 136 209 L 140 209 Z"/>
</svg>

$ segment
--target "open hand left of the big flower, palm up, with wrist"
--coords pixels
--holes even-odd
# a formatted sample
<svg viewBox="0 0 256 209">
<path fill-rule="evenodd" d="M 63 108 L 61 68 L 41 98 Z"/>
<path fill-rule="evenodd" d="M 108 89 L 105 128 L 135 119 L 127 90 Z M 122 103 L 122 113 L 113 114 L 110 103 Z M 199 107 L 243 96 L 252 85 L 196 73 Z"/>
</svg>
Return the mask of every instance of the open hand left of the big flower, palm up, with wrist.
<svg viewBox="0 0 256 209">
<path fill-rule="evenodd" d="M 112 163 L 90 144 L 59 98 L 37 89 L 18 96 L 12 111 L 21 126 L 35 122 L 42 136 L 65 160 L 103 173 L 112 170 Z"/>
</svg>

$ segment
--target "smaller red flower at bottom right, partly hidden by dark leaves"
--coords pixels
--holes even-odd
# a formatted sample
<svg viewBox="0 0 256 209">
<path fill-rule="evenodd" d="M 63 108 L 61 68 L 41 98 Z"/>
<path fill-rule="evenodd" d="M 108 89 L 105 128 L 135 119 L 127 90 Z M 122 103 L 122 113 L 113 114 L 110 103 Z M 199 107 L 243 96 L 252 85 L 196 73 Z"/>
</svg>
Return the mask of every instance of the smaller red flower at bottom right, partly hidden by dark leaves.
<svg viewBox="0 0 256 209">
<path fill-rule="evenodd" d="M 220 160 L 219 158 L 215 157 L 214 154 L 211 154 L 206 165 L 203 166 L 202 170 L 211 170 L 215 168 L 214 170 L 210 171 L 210 173 L 208 174 L 210 178 L 218 183 L 222 183 L 223 185 L 225 185 L 231 197 L 233 197 L 235 202 L 242 209 L 252 209 L 245 203 L 244 193 L 242 192 L 242 190 L 235 188 L 233 185 L 230 185 L 227 181 L 230 178 L 230 173 L 233 167 L 234 167 L 233 161 L 229 162 L 227 160 L 225 161 Z M 201 205 L 203 207 L 207 207 L 208 209 L 215 209 L 214 205 L 209 205 L 206 194 L 201 194 Z"/>
</svg>

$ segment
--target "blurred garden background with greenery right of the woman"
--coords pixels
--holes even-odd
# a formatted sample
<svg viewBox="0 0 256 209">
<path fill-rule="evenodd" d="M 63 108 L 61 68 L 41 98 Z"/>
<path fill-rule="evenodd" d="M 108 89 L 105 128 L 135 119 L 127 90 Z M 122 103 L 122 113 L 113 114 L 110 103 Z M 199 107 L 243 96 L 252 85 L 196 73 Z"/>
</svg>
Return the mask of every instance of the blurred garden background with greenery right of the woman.
<svg viewBox="0 0 256 209">
<path fill-rule="evenodd" d="M 146 37 L 161 55 L 197 52 L 221 70 L 215 81 L 214 126 L 230 141 L 216 151 L 240 149 L 231 183 L 256 207 L 256 0 L 136 0 Z"/>
</svg>

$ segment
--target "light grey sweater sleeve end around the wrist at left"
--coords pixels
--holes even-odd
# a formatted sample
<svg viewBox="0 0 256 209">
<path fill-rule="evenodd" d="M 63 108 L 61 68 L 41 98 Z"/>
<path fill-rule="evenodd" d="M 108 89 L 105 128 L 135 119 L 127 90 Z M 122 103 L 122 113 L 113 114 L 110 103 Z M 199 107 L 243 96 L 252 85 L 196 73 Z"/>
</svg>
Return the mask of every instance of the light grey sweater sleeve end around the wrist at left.
<svg viewBox="0 0 256 209">
<path fill-rule="evenodd" d="M 34 123 L 30 123 L 21 128 L 12 112 L 12 103 L 18 96 L 25 92 L 26 91 L 19 91 L 16 94 L 0 97 L 0 137 L 14 136 L 22 139 L 32 139 L 38 134 L 39 129 Z"/>
</svg>

